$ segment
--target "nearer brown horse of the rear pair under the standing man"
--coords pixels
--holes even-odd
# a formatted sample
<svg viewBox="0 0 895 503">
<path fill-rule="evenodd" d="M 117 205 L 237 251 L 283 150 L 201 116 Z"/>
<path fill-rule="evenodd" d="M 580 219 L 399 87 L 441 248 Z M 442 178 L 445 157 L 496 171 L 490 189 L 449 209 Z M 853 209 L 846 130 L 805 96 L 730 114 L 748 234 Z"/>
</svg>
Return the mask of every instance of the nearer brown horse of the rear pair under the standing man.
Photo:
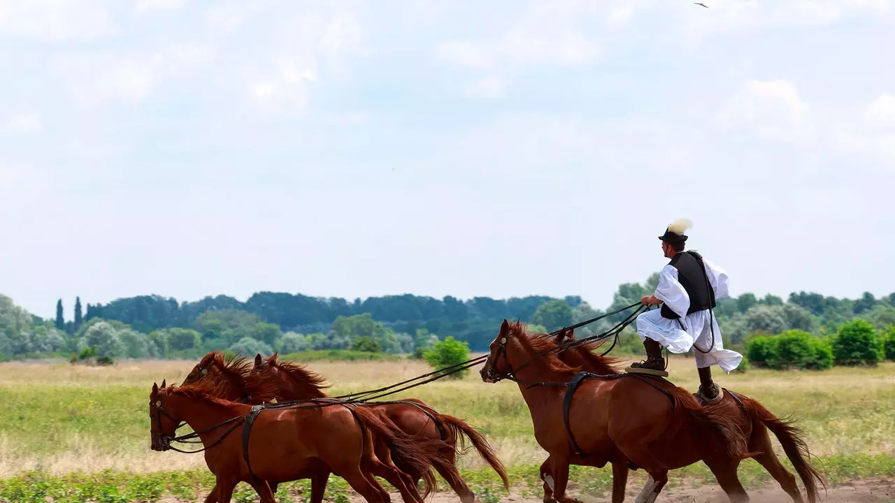
<svg viewBox="0 0 895 503">
<path fill-rule="evenodd" d="M 555 347 L 546 337 L 529 336 L 521 323 L 504 320 L 481 374 L 485 382 L 516 380 L 532 414 L 534 437 L 550 455 L 558 502 L 575 501 L 566 497 L 569 465 L 611 463 L 616 503 L 621 501 L 616 490 L 624 496 L 629 464 L 643 468 L 649 478 L 636 503 L 653 503 L 669 470 L 703 460 L 718 476 L 731 468 L 736 472 L 739 461 L 750 456 L 737 422 L 722 407 L 701 406 L 686 389 L 637 374 L 580 381 L 566 422 L 567 383 L 581 369 L 550 353 Z M 719 483 L 729 489 L 729 481 L 719 477 Z"/>
</svg>

